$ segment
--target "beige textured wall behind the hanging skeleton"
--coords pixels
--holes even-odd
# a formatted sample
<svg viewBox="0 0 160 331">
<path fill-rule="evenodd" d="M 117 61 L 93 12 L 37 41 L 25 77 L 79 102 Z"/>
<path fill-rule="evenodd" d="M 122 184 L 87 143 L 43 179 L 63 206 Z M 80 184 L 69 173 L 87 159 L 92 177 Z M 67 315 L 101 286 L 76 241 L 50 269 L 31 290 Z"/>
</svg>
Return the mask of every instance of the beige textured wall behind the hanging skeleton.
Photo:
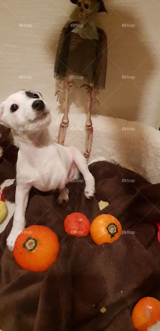
<svg viewBox="0 0 160 331">
<path fill-rule="evenodd" d="M 0 101 L 20 89 L 33 89 L 44 95 L 55 115 L 63 111 L 54 97 L 54 61 L 61 30 L 74 8 L 69 0 L 0 0 Z M 97 17 L 97 25 L 108 37 L 108 68 L 96 113 L 159 128 L 158 0 L 109 0 L 106 8 L 108 15 Z M 21 79 L 20 75 L 32 78 Z M 122 75 L 135 79 L 122 79 Z M 83 93 L 83 89 L 72 90 L 70 112 L 84 112 Z"/>
</svg>

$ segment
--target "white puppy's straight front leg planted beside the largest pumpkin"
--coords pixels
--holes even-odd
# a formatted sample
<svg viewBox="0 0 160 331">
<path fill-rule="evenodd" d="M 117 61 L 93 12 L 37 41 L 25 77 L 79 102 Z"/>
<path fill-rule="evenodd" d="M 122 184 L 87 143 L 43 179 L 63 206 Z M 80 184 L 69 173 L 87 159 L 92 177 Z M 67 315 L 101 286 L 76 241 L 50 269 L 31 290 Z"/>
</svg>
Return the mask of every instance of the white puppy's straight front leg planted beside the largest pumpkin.
<svg viewBox="0 0 160 331">
<path fill-rule="evenodd" d="M 24 183 L 16 186 L 13 226 L 11 233 L 7 238 L 7 246 L 10 251 L 13 251 L 15 240 L 25 227 L 25 212 L 28 203 L 29 191 L 30 187 L 28 187 L 28 185 L 24 185 Z"/>
</svg>

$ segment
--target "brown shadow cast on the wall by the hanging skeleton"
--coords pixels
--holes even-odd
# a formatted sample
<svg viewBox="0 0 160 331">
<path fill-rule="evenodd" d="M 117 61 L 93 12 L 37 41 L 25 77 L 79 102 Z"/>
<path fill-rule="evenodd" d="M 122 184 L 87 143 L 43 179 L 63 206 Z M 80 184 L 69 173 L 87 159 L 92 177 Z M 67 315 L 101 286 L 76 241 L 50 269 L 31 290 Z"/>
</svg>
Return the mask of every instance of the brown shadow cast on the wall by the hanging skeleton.
<svg viewBox="0 0 160 331">
<path fill-rule="evenodd" d="M 109 5 L 113 8 L 111 1 Z M 108 63 L 106 88 L 99 93 L 100 107 L 94 114 L 134 120 L 142 115 L 140 107 L 147 85 L 150 86 L 148 81 L 151 80 L 155 69 L 156 55 L 152 54 L 152 50 L 141 39 L 145 28 L 140 25 L 142 24 L 141 19 L 135 20 L 136 16 L 132 15 L 131 11 L 129 12 L 129 8 L 128 12 L 121 12 L 116 7 L 112 10 L 107 5 L 106 8 L 108 15 L 97 14 L 95 23 L 107 34 Z M 132 9 L 134 8 L 132 7 Z M 73 14 L 74 12 L 71 15 Z M 132 24 L 135 26 L 132 27 Z M 56 44 L 52 44 L 51 47 L 56 47 Z M 57 49 L 55 49 L 55 54 L 56 51 Z M 151 54 L 152 56 L 150 56 Z M 69 106 L 72 104 L 77 108 L 86 109 L 87 91 L 85 88 L 72 87 Z M 62 105 L 59 110 L 63 112 Z"/>
</svg>

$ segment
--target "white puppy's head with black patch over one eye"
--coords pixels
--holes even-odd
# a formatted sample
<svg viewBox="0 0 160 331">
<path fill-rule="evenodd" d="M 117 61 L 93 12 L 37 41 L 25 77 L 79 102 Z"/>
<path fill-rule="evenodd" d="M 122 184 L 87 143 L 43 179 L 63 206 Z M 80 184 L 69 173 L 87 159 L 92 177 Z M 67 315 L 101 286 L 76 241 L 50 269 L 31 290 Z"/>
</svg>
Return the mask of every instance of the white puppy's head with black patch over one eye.
<svg viewBox="0 0 160 331">
<path fill-rule="evenodd" d="M 0 122 L 15 133 L 33 133 L 51 122 L 50 111 L 40 92 L 20 91 L 0 105 Z"/>
</svg>

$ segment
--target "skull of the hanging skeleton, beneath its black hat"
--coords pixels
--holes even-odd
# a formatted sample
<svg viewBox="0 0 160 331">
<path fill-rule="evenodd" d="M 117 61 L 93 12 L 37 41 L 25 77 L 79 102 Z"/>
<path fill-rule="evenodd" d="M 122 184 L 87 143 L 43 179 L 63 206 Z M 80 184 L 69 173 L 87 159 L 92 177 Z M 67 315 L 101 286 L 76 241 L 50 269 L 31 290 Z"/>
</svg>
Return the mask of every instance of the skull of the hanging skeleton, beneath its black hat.
<svg viewBox="0 0 160 331">
<path fill-rule="evenodd" d="M 77 5 L 79 8 L 79 16 L 81 20 L 91 15 L 91 13 L 98 13 L 100 8 L 100 4 L 96 0 L 78 0 Z"/>
</svg>

